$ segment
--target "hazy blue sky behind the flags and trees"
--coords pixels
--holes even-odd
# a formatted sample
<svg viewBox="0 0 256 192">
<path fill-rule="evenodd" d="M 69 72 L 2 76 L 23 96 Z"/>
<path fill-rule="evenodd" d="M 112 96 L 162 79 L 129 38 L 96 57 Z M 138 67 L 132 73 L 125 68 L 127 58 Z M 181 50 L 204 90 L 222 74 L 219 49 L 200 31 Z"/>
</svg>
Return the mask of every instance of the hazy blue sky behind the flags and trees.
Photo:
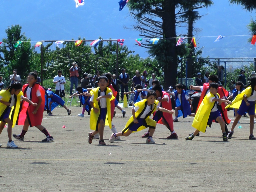
<svg viewBox="0 0 256 192">
<path fill-rule="evenodd" d="M 6 37 L 8 26 L 19 24 L 31 41 L 69 40 L 79 36 L 87 40 L 98 39 L 99 36 L 103 39 L 126 39 L 124 44 L 145 58 L 148 56 L 146 49 L 134 45 L 134 39 L 140 38 L 139 32 L 124 28 L 132 28 L 135 21 L 127 7 L 119 11 L 118 1 L 85 0 L 83 6 L 76 8 L 73 0 L 1 0 L 0 39 Z M 196 28 L 201 28 L 195 36 L 197 44 L 205 47 L 203 56 L 254 56 L 255 48 L 247 43 L 249 36 L 241 36 L 249 35 L 246 26 L 251 14 L 240 6 L 230 6 L 228 0 L 216 0 L 214 4 L 208 10 L 200 10 L 200 14 L 205 16 L 195 24 Z M 186 28 L 177 28 L 177 35 L 186 33 Z M 216 43 L 214 40 L 218 35 L 226 37 Z"/>
</svg>

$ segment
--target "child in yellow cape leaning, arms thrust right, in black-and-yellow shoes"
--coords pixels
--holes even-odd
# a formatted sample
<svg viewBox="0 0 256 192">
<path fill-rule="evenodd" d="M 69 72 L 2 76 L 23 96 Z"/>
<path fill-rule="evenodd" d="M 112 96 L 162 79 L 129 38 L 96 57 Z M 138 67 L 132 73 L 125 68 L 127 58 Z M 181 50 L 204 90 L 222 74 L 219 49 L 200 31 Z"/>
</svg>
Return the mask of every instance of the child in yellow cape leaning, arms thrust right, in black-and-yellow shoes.
<svg viewBox="0 0 256 192">
<path fill-rule="evenodd" d="M 209 84 L 210 92 L 206 94 L 201 102 L 192 123 L 192 127 L 196 130 L 192 135 L 185 137 L 186 140 L 192 140 L 200 131 L 205 133 L 206 127 L 211 126 L 212 121 L 215 120 L 220 124 L 223 141 L 228 141 L 225 131 L 225 122 L 221 118 L 219 105 L 221 105 L 222 102 L 229 104 L 232 102 L 226 99 L 220 99 L 220 95 L 217 93 L 218 87 L 218 83 Z"/>
</svg>

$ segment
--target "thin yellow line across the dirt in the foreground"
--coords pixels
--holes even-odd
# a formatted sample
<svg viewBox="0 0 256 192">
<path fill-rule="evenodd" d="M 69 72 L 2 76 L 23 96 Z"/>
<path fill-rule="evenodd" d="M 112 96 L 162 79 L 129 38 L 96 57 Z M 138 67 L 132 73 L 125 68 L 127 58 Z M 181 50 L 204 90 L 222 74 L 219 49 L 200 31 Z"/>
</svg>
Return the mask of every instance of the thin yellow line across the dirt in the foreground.
<svg viewBox="0 0 256 192">
<path fill-rule="evenodd" d="M 156 159 L 156 160 L 146 160 L 146 159 L 142 159 L 142 160 L 139 160 L 139 159 L 21 159 L 21 158 L 0 158 L 0 160 L 17 160 L 17 161 L 20 161 L 20 160 L 26 160 L 26 161 L 106 161 L 106 162 L 109 162 L 109 161 L 137 161 L 137 162 L 152 162 L 152 161 L 159 161 L 159 162 L 251 162 L 251 163 L 255 163 L 256 161 L 244 161 L 244 160 L 241 160 L 241 161 L 215 161 L 215 160 L 159 160 L 159 159 Z"/>
</svg>

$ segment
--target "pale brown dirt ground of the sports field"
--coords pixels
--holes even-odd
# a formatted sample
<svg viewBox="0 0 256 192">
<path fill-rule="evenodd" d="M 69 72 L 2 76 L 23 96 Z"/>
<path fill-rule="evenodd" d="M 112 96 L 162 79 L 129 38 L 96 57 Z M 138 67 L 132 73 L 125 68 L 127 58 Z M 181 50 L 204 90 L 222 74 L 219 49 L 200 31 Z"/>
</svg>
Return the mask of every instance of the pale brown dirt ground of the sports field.
<svg viewBox="0 0 256 192">
<path fill-rule="evenodd" d="M 157 124 L 156 144 L 146 144 L 145 131 L 109 143 L 111 130 L 105 127 L 106 146 L 98 139 L 88 143 L 89 116 L 79 117 L 82 108 L 70 107 L 68 116 L 56 108 L 54 116 L 44 113 L 42 125 L 55 138 L 29 128 L 25 141 L 15 140 L 17 149 L 6 148 L 7 129 L 0 135 L 0 191 L 255 191 L 255 145 L 249 137 L 249 118 L 242 118 L 233 138 L 222 141 L 220 126 L 213 123 L 206 133 L 192 141 L 193 118 L 174 122 L 179 138 L 169 140 L 169 130 Z M 125 118 L 117 109 L 113 123 L 118 131 Z M 229 111 L 232 116 L 232 111 Z M 66 128 L 62 128 L 65 125 Z M 228 126 L 229 129 L 231 125 Z M 19 134 L 22 126 L 15 126 Z M 256 133 L 255 133 L 256 134 Z"/>
</svg>

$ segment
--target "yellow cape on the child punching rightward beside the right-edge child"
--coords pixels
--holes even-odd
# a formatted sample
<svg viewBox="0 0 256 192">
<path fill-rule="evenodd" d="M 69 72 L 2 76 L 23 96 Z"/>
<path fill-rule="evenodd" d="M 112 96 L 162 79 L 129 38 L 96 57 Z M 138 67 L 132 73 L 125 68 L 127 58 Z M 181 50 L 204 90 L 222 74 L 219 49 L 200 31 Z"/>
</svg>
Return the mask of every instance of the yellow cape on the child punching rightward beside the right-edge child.
<svg viewBox="0 0 256 192">
<path fill-rule="evenodd" d="M 220 98 L 220 95 L 217 93 L 218 97 Z M 194 121 L 192 123 L 192 127 L 196 128 L 197 130 L 204 132 L 206 131 L 207 122 L 211 113 L 212 108 L 214 107 L 215 102 L 210 102 L 210 98 L 215 97 L 212 93 L 207 93 L 205 95 L 205 98 L 201 102 L 197 112 L 196 116 L 194 118 Z"/>
</svg>

